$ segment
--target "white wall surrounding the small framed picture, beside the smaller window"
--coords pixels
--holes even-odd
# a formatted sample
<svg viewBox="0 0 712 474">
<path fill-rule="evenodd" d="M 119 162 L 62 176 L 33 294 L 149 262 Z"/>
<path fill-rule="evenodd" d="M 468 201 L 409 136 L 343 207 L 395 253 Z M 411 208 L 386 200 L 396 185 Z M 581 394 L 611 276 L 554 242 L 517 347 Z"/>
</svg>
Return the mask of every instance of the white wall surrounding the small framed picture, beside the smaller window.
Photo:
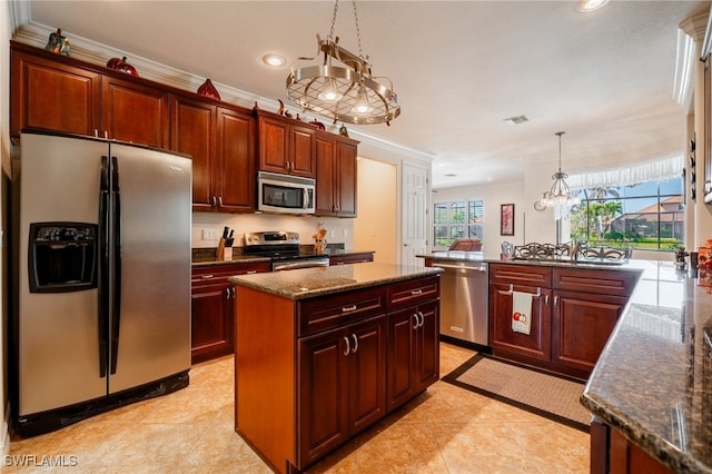
<svg viewBox="0 0 712 474">
<path fill-rule="evenodd" d="M 482 249 L 487 258 L 500 258 L 501 245 L 505 240 L 514 245 L 522 245 L 525 239 L 532 241 L 528 226 L 525 225 L 525 217 L 528 219 L 528 215 L 534 213 L 534 208 L 525 201 L 523 182 L 444 188 L 434 192 L 432 200 L 437 203 L 459 198 L 484 199 L 485 201 Z M 503 204 L 514 204 L 514 236 L 500 235 L 500 206 Z"/>
</svg>

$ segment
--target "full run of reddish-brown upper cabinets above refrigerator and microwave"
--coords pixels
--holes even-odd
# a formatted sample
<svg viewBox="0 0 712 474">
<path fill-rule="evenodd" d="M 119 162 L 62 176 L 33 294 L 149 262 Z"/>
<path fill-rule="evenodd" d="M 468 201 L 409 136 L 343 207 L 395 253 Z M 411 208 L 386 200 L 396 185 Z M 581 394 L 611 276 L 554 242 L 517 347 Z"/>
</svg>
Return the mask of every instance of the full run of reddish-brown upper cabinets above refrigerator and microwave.
<svg viewBox="0 0 712 474">
<path fill-rule="evenodd" d="M 357 141 L 278 113 L 10 45 L 12 138 L 23 128 L 47 129 L 190 155 L 192 209 L 224 213 L 255 211 L 258 169 L 316 178 L 318 156 L 320 214 L 356 216 Z"/>
</svg>

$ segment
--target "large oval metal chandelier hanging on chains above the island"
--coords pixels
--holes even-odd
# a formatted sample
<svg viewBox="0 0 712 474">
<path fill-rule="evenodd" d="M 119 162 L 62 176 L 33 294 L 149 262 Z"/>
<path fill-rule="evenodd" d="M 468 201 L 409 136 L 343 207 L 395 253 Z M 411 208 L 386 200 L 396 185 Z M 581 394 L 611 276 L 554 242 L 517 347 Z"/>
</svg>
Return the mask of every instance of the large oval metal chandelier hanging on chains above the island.
<svg viewBox="0 0 712 474">
<path fill-rule="evenodd" d="M 383 124 L 400 115 L 398 96 L 393 91 L 388 78 L 372 75 L 368 57 L 360 48 L 360 31 L 356 16 L 358 56 L 338 45 L 334 37 L 334 24 L 338 0 L 334 3 L 334 17 L 329 36 L 323 40 L 318 34 L 317 55 L 323 55 L 320 63 L 295 68 L 297 61 L 314 61 L 316 58 L 298 58 L 287 77 L 287 97 L 304 110 L 348 124 Z M 334 66 L 336 63 L 336 66 Z"/>
</svg>

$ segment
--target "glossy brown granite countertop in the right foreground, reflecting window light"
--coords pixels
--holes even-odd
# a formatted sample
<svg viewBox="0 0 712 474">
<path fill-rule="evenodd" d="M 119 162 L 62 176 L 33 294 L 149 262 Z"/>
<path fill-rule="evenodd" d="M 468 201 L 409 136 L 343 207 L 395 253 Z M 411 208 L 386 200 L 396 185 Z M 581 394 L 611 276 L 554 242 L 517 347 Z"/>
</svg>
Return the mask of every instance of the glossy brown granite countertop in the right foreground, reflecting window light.
<svg viewBox="0 0 712 474">
<path fill-rule="evenodd" d="M 673 471 L 712 473 L 712 288 L 671 261 L 637 266 L 581 403 Z"/>
</svg>

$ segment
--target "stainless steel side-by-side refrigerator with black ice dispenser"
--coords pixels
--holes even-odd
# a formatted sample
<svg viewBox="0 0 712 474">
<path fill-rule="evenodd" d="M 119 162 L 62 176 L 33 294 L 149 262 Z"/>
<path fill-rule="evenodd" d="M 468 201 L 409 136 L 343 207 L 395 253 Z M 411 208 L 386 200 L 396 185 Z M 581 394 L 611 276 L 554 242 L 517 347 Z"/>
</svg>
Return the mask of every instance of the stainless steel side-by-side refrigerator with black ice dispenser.
<svg viewBox="0 0 712 474">
<path fill-rule="evenodd" d="M 188 385 L 191 160 L 23 132 L 16 429 L 34 435 Z"/>
</svg>

